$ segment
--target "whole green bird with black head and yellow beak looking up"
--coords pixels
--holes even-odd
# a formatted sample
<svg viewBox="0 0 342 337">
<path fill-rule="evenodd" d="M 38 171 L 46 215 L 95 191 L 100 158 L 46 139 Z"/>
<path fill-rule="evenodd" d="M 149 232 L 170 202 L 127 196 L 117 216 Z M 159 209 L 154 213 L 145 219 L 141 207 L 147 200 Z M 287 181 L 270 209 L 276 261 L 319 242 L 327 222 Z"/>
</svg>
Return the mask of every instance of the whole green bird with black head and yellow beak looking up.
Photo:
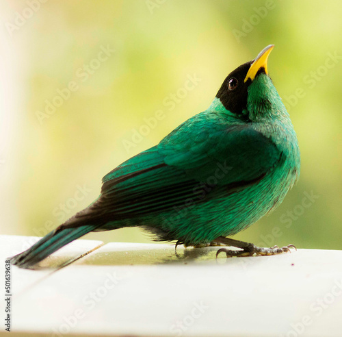
<svg viewBox="0 0 342 337">
<path fill-rule="evenodd" d="M 185 247 L 239 248 L 227 257 L 289 251 L 227 238 L 274 210 L 300 175 L 297 136 L 267 73 L 273 47 L 230 73 L 207 110 L 105 175 L 98 199 L 12 264 L 31 268 L 88 232 L 135 226 Z"/>
</svg>

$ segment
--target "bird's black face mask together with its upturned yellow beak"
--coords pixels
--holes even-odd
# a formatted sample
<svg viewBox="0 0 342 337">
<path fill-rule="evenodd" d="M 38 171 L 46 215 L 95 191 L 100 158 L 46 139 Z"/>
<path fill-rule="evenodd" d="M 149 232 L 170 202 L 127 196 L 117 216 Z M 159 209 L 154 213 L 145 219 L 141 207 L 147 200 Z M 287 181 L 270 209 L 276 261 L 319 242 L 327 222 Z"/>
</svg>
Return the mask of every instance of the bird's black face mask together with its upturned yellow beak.
<svg viewBox="0 0 342 337">
<path fill-rule="evenodd" d="M 224 79 L 216 97 L 226 110 L 237 116 L 246 114 L 248 87 L 260 73 L 267 74 L 267 58 L 272 49 L 273 45 L 267 46 L 255 60 L 242 64 Z"/>
</svg>

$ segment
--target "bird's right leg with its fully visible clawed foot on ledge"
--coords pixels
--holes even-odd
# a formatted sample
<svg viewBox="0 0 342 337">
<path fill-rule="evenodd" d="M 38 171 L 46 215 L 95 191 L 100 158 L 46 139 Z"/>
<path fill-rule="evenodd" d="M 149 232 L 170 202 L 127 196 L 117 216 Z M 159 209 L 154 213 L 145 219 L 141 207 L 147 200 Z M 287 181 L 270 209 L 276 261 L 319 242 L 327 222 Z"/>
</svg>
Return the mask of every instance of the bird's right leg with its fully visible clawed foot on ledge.
<svg viewBox="0 0 342 337">
<path fill-rule="evenodd" d="M 227 258 L 231 258 L 233 256 L 237 256 L 237 257 L 252 256 L 254 254 L 255 255 L 275 255 L 275 254 L 287 253 L 287 252 L 291 253 L 290 248 L 294 248 L 295 250 L 297 250 L 295 246 L 293 245 L 287 245 L 286 247 L 281 247 L 281 248 L 278 246 L 274 246 L 270 248 L 257 247 L 256 245 L 252 243 L 234 240 L 231 238 L 225 238 L 224 236 L 219 236 L 218 238 L 215 238 L 213 242 L 218 242 L 226 246 L 233 246 L 233 247 L 242 249 L 241 251 L 233 251 L 230 249 L 222 248 L 218 250 L 218 252 L 216 253 L 216 257 L 218 257 L 218 254 L 222 253 L 222 251 L 226 253 Z"/>
</svg>

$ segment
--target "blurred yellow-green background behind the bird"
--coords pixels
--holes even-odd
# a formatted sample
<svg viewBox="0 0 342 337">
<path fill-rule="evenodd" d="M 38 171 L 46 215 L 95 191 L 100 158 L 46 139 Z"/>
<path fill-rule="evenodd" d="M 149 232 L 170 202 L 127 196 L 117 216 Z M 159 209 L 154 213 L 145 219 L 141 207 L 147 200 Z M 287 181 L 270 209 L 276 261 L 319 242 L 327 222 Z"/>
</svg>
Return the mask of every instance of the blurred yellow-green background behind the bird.
<svg viewBox="0 0 342 337">
<path fill-rule="evenodd" d="M 235 238 L 341 249 L 341 15 L 339 1 L 3 1 L 0 233 L 42 236 L 86 207 L 103 175 L 205 110 L 272 43 L 301 177 Z M 86 238 L 150 242 L 135 228 Z"/>
</svg>

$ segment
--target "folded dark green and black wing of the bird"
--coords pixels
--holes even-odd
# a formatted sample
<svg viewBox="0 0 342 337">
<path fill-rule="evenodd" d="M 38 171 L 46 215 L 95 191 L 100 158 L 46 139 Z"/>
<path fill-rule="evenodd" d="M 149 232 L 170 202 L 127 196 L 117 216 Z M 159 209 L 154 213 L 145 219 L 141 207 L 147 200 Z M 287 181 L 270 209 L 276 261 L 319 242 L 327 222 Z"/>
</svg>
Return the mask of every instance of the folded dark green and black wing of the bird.
<svg viewBox="0 0 342 337">
<path fill-rule="evenodd" d="M 256 184 L 280 157 L 250 125 L 193 118 L 105 175 L 101 196 L 83 216 L 116 221 L 182 207 L 189 199 L 201 203 Z M 207 186 L 211 192 L 204 193 Z"/>
</svg>

